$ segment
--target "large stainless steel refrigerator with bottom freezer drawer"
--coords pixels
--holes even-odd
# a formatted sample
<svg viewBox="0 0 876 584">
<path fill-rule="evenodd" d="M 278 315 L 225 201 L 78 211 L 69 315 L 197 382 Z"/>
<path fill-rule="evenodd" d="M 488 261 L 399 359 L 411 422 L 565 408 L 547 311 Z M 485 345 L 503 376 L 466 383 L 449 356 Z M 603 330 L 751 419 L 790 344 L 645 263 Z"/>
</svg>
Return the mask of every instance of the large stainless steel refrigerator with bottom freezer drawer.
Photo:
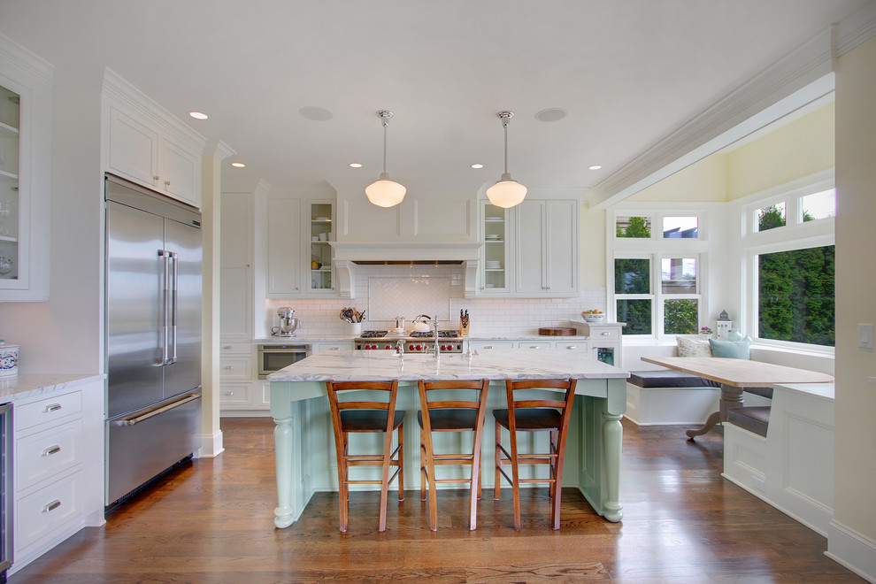
<svg viewBox="0 0 876 584">
<path fill-rule="evenodd" d="M 107 175 L 106 504 L 197 449 L 201 215 Z"/>
</svg>

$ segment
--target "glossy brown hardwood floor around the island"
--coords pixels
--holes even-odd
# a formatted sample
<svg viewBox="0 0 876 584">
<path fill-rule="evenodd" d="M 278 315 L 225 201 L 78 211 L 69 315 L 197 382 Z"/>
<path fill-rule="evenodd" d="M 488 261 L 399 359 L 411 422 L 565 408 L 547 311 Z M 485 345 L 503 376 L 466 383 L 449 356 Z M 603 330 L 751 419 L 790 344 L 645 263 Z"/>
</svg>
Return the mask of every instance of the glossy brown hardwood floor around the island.
<svg viewBox="0 0 876 584">
<path fill-rule="evenodd" d="M 350 531 L 337 529 L 335 493 L 302 519 L 273 528 L 273 421 L 222 419 L 226 452 L 171 473 L 100 528 L 87 528 L 12 576 L 52 582 L 864 582 L 823 555 L 826 540 L 720 477 L 722 438 L 697 442 L 683 426 L 624 422 L 623 523 L 563 492 L 562 528 L 549 527 L 547 488 L 480 502 L 469 532 L 465 491 L 438 495 L 439 528 L 409 491 L 390 496 L 377 532 L 378 494 L 350 496 Z"/>
</svg>

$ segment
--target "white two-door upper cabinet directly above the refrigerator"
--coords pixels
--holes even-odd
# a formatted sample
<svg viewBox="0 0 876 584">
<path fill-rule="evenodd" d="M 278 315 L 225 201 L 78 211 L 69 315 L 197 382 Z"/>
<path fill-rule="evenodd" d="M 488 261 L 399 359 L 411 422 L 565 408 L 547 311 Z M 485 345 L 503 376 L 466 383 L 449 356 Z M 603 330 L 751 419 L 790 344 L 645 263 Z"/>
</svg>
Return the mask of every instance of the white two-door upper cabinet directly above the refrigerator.
<svg viewBox="0 0 876 584">
<path fill-rule="evenodd" d="M 107 170 L 200 208 L 204 138 L 112 81 L 105 84 Z"/>
</svg>

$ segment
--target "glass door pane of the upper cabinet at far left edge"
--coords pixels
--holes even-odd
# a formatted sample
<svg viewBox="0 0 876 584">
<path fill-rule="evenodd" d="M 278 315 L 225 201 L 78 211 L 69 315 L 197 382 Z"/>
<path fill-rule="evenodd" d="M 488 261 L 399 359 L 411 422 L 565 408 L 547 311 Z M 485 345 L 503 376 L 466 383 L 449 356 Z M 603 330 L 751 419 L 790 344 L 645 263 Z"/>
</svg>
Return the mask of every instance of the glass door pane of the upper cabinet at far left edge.
<svg viewBox="0 0 876 584">
<path fill-rule="evenodd" d="M 21 97 L 0 86 L 0 279 L 19 279 L 19 111 Z"/>
</svg>

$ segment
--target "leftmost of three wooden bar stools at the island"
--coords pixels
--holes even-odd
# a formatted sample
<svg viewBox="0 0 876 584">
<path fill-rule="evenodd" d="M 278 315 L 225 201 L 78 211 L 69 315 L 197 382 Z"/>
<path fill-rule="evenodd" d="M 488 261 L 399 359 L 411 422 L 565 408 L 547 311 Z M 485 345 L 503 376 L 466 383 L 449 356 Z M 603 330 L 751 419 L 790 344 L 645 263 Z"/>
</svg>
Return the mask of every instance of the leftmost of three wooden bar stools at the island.
<svg viewBox="0 0 876 584">
<path fill-rule="evenodd" d="M 347 531 L 350 518 L 350 485 L 380 485 L 380 526 L 379 531 L 387 529 L 387 501 L 389 484 L 398 477 L 398 500 L 404 500 L 403 473 L 403 420 L 404 411 L 396 411 L 398 381 L 326 381 L 328 403 L 332 408 L 334 426 L 334 445 L 338 455 L 338 498 L 340 503 L 342 532 Z M 338 395 L 347 391 L 385 391 L 386 401 L 341 401 Z M 367 399 L 373 399 L 368 396 Z M 398 446 L 392 448 L 392 437 L 398 431 Z M 350 454 L 351 433 L 383 432 L 382 454 Z M 380 480 L 350 480 L 350 466 L 382 466 Z M 389 476 L 390 467 L 396 472 Z"/>
</svg>

